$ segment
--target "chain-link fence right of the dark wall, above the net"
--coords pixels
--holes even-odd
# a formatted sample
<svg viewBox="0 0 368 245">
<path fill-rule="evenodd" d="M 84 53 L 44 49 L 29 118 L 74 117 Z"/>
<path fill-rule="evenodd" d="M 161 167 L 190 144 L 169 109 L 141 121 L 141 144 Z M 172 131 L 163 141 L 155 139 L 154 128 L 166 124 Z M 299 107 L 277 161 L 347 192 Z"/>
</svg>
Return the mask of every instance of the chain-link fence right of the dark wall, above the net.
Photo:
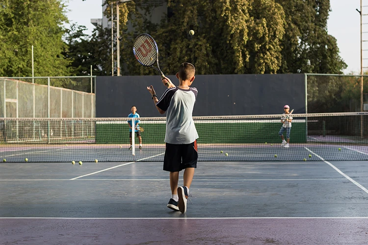
<svg viewBox="0 0 368 245">
<path fill-rule="evenodd" d="M 306 74 L 306 84 L 308 113 L 361 110 L 361 76 Z M 363 91 L 368 91 L 368 75 L 363 76 L 363 84 Z M 364 103 L 368 104 L 367 94 Z"/>
</svg>

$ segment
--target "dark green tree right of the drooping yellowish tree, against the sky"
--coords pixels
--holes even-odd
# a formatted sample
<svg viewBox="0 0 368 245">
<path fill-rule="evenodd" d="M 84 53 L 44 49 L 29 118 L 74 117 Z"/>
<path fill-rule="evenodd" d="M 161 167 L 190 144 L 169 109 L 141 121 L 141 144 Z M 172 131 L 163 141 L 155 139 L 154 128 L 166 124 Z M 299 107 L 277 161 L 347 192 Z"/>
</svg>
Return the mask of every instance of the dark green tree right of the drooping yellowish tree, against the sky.
<svg viewBox="0 0 368 245">
<path fill-rule="evenodd" d="M 342 73 L 347 66 L 327 32 L 330 0 L 276 0 L 285 11 L 282 65 L 278 73 Z"/>
</svg>

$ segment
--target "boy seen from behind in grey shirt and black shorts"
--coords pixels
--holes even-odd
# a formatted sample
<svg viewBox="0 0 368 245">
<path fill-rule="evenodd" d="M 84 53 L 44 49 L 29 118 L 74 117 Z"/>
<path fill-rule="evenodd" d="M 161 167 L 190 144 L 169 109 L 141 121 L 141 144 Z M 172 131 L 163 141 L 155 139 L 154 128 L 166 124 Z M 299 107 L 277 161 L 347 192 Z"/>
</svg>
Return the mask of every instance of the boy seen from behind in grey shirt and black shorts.
<svg viewBox="0 0 368 245">
<path fill-rule="evenodd" d="M 175 87 L 167 77 L 162 79 L 162 83 L 168 83 L 169 86 L 160 99 L 157 98 L 152 85 L 147 87 L 158 112 L 164 114 L 167 111 L 166 150 L 163 160 L 163 170 L 170 172 L 171 198 L 167 207 L 182 213 L 186 211 L 186 201 L 198 159 L 198 134 L 192 119 L 198 91 L 189 87 L 194 81 L 194 75 L 195 68 L 192 64 L 181 64 L 179 72 L 176 73 L 179 86 Z M 178 188 L 179 172 L 182 170 L 184 186 Z"/>
</svg>

